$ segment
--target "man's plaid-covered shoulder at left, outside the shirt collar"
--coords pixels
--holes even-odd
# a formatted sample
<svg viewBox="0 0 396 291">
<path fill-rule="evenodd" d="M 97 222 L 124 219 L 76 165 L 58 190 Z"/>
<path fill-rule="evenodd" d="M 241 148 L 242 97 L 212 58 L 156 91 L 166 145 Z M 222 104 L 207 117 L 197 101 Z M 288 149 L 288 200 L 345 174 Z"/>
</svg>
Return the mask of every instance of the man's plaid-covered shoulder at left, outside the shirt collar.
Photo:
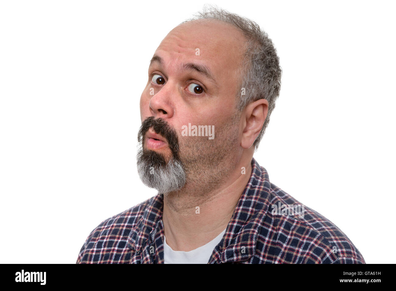
<svg viewBox="0 0 396 291">
<path fill-rule="evenodd" d="M 110 254 L 127 249 L 131 232 L 138 226 L 153 198 L 113 215 L 96 226 L 81 247 L 76 263 L 111 262 Z"/>
</svg>

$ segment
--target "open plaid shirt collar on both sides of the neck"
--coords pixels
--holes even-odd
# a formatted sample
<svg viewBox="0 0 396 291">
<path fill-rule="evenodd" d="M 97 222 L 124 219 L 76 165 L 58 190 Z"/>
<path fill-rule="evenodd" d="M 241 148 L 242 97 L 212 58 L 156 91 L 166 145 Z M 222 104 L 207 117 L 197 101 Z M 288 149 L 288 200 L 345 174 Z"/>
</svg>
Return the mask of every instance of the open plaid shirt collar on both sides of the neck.
<svg viewBox="0 0 396 291">
<path fill-rule="evenodd" d="M 257 161 L 251 160 L 252 172 L 234 213 L 227 225 L 226 232 L 215 247 L 209 262 L 245 261 L 256 251 L 257 234 L 268 211 L 270 202 L 270 181 L 268 173 Z M 150 198 L 143 217 L 128 238 L 128 245 L 147 257 L 151 250 L 142 250 L 154 246 L 161 251 L 158 258 L 163 261 L 163 211 L 164 196 L 157 194 Z"/>
</svg>

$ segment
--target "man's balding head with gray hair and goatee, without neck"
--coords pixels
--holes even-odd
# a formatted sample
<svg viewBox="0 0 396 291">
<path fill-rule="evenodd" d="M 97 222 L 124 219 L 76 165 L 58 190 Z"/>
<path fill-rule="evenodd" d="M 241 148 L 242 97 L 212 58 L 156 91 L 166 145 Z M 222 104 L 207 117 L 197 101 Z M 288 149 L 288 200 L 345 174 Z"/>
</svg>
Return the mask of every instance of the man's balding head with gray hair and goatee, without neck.
<svg viewBox="0 0 396 291">
<path fill-rule="evenodd" d="M 142 181 L 164 194 L 218 187 L 257 148 L 280 75 L 271 40 L 238 15 L 211 9 L 171 30 L 140 100 Z"/>
</svg>

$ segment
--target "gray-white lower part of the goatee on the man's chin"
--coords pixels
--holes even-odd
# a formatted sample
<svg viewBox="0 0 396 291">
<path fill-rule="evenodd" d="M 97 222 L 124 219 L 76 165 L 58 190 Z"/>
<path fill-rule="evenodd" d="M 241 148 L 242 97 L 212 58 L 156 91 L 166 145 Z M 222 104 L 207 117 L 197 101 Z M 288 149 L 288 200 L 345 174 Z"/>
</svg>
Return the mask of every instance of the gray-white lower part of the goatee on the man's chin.
<svg viewBox="0 0 396 291">
<path fill-rule="evenodd" d="M 143 149 L 140 148 L 136 161 L 137 172 L 143 184 L 158 190 L 164 196 L 180 190 L 186 183 L 186 172 L 178 159 L 171 157 L 169 163 L 164 166 L 143 158 Z"/>
</svg>

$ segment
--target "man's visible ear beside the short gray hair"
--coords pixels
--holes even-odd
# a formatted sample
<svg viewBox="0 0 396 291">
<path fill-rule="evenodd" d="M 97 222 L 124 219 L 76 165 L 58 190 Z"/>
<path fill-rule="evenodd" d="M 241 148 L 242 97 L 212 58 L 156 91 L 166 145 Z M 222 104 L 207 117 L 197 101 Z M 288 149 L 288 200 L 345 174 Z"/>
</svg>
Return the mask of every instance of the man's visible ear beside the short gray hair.
<svg viewBox="0 0 396 291">
<path fill-rule="evenodd" d="M 268 101 L 259 99 L 247 105 L 244 109 L 245 126 L 242 131 L 241 146 L 250 148 L 259 135 L 268 113 Z"/>
</svg>

